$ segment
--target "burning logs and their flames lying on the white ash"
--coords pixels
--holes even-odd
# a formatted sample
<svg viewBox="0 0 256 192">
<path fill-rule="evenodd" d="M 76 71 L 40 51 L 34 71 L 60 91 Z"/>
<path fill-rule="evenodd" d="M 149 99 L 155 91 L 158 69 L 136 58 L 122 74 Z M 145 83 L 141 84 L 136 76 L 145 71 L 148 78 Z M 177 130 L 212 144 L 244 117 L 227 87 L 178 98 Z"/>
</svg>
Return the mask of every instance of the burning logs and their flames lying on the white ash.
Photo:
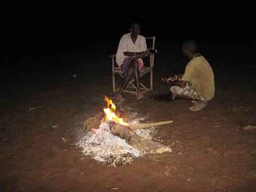
<svg viewBox="0 0 256 192">
<path fill-rule="evenodd" d="M 89 118 L 84 122 L 83 131 L 93 131 L 94 135 L 92 140 L 96 137 L 96 135 L 100 135 L 100 132 L 104 130 L 104 127 L 101 126 L 101 122 L 108 121 L 111 122 L 111 126 L 109 127 L 111 133 L 113 135 L 117 135 L 121 137 L 121 139 L 125 139 L 125 141 L 132 145 L 137 151 L 141 153 L 163 153 L 163 152 L 172 152 L 172 149 L 169 147 L 156 143 L 154 141 L 148 140 L 143 136 L 136 135 L 133 130 L 137 130 L 140 128 L 147 128 L 153 126 L 160 126 L 162 124 L 172 123 L 172 120 L 166 122 L 157 122 L 157 123 L 143 123 L 143 124 L 132 124 L 129 125 L 125 123 L 122 118 L 119 118 L 115 114 L 116 106 L 105 97 L 105 101 L 107 102 L 107 108 L 104 108 L 105 117 L 102 113 L 95 115 L 92 118 Z"/>
</svg>

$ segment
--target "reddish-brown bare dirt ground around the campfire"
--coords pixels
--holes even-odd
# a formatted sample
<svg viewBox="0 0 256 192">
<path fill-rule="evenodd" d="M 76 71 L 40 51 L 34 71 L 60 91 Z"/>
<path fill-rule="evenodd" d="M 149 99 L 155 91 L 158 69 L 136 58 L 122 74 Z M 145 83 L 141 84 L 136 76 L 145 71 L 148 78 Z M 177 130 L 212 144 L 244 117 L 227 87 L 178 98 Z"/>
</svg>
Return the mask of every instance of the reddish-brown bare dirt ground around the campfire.
<svg viewBox="0 0 256 192">
<path fill-rule="evenodd" d="M 165 55 L 159 54 L 154 90 L 141 101 L 124 94 L 125 102 L 116 104 L 146 116 L 145 122 L 173 120 L 156 128 L 156 137 L 173 151 L 109 167 L 84 156 L 76 145 L 84 134 L 84 120 L 103 109 L 104 95 L 113 98 L 107 56 L 101 60 L 84 58 L 94 63 L 90 68 L 51 67 L 60 62 L 58 57 L 38 56 L 37 61 L 48 63 L 43 70 L 35 66 L 15 75 L 2 74 L 2 191 L 256 190 L 256 130 L 243 129 L 256 125 L 255 63 L 246 61 L 245 65 L 239 58 L 227 62 L 224 55 L 210 57 L 207 53 L 216 77 L 216 97 L 204 110 L 192 112 L 192 103 L 187 100 L 161 103 L 150 99 L 169 90 L 160 77 L 184 69 L 184 65 L 177 65 L 184 59 L 173 54 L 168 57 L 172 64 L 164 63 Z M 76 55 L 68 57 L 72 58 Z"/>
</svg>

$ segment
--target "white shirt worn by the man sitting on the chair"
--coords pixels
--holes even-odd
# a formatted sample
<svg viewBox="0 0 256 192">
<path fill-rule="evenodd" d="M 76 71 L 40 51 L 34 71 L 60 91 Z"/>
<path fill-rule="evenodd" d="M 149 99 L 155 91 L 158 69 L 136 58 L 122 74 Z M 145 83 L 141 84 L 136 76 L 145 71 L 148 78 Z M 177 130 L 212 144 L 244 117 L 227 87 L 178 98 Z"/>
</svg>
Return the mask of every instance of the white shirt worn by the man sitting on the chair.
<svg viewBox="0 0 256 192">
<path fill-rule="evenodd" d="M 124 34 L 119 41 L 116 53 L 116 63 L 121 66 L 123 60 L 127 58 L 127 56 L 124 56 L 124 52 L 143 52 L 146 50 L 147 44 L 144 36 L 138 35 L 135 43 L 133 43 L 131 33 Z"/>
</svg>

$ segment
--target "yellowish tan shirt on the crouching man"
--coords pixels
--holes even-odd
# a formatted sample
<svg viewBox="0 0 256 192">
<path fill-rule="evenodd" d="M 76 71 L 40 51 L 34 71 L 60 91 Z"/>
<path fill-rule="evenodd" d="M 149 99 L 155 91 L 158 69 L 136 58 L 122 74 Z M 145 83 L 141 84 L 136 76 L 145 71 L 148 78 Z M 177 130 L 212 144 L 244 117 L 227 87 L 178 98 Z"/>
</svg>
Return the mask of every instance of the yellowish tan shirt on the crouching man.
<svg viewBox="0 0 256 192">
<path fill-rule="evenodd" d="M 190 81 L 206 101 L 214 97 L 214 74 L 209 62 L 203 56 L 194 57 L 186 64 L 182 81 Z"/>
</svg>

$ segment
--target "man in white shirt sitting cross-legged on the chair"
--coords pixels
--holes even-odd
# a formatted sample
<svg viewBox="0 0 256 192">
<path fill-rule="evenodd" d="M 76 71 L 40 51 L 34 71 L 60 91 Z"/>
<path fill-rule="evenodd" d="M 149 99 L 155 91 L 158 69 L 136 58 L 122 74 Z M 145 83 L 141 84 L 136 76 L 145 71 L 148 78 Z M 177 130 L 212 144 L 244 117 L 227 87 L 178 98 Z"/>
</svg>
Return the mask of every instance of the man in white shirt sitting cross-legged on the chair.
<svg viewBox="0 0 256 192">
<path fill-rule="evenodd" d="M 140 89 L 140 74 L 139 70 L 143 68 L 143 58 L 149 56 L 147 52 L 147 44 L 144 36 L 140 35 L 140 24 L 133 22 L 130 25 L 130 33 L 124 34 L 120 41 L 116 53 L 116 63 L 121 67 L 124 74 L 124 81 L 116 99 L 124 100 L 121 96 L 123 90 L 132 78 L 135 79 L 137 87 L 137 100 L 143 98 Z"/>
</svg>

